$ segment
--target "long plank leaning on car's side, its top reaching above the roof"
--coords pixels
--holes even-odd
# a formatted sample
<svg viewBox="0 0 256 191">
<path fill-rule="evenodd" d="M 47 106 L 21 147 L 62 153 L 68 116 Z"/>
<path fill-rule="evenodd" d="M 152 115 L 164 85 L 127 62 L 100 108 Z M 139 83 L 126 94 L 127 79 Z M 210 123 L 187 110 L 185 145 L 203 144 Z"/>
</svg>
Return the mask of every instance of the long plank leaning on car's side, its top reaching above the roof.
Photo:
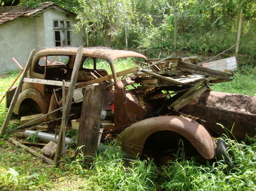
<svg viewBox="0 0 256 191">
<path fill-rule="evenodd" d="M 58 165 L 60 158 L 63 157 L 62 149 L 63 149 L 63 129 L 67 126 L 67 121 L 69 119 L 69 112 L 71 110 L 71 103 L 73 99 L 74 93 L 74 85 L 76 84 L 76 80 L 78 78 L 78 72 L 81 65 L 81 57 L 83 56 L 83 47 L 80 46 L 78 49 L 78 53 L 76 54 L 76 59 L 74 61 L 73 72 L 71 75 L 71 82 L 69 86 L 69 91 L 67 92 L 67 99 L 65 105 L 65 114 L 62 116 L 62 123 L 60 125 L 59 139 L 57 142 L 57 148 L 54 158 L 54 163 Z"/>
</svg>

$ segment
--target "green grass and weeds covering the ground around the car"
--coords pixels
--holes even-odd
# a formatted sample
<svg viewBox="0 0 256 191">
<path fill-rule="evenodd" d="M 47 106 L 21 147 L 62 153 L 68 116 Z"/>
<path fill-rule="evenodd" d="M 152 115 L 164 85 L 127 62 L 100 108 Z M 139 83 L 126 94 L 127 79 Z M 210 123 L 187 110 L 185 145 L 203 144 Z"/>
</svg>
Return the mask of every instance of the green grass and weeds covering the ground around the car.
<svg viewBox="0 0 256 191">
<path fill-rule="evenodd" d="M 120 65 L 123 66 L 123 65 Z M 214 90 L 255 95 L 255 68 L 235 73 L 232 82 L 216 84 Z M 0 95 L 17 73 L 0 79 Z M 4 101 L 5 102 L 5 101 Z M 6 113 L 0 104 L 0 124 Z M 12 125 L 11 125 L 12 126 Z M 83 156 L 69 159 L 59 168 L 51 167 L 22 148 L 0 139 L 0 190 L 256 190 L 256 144 L 225 138 L 235 169 L 223 161 L 200 164 L 182 155 L 165 167 L 148 160 L 126 162 L 120 153 L 97 153 L 88 169 Z"/>
</svg>

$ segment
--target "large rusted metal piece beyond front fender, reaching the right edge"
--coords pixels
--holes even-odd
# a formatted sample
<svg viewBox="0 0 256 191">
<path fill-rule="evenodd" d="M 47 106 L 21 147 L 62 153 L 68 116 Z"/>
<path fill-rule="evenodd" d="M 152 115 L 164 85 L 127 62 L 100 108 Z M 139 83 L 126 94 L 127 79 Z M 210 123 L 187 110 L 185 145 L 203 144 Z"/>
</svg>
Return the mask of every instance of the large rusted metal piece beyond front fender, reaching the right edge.
<svg viewBox="0 0 256 191">
<path fill-rule="evenodd" d="M 230 138 L 240 140 L 245 139 L 246 134 L 256 135 L 256 96 L 207 91 L 183 107 L 182 112 L 204 119 L 205 127 L 212 134 L 229 134 Z M 232 130 L 232 134 L 228 130 Z"/>
</svg>

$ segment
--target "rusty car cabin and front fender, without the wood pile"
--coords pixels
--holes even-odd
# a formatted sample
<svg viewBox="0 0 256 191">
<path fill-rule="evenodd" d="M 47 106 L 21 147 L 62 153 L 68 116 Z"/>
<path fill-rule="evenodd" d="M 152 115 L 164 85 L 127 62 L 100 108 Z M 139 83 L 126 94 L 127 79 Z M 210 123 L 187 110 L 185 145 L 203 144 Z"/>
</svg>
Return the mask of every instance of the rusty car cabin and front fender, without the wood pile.
<svg viewBox="0 0 256 191">
<path fill-rule="evenodd" d="M 69 82 L 77 52 L 78 48 L 73 47 L 49 48 L 37 52 L 13 112 L 19 115 L 46 114 L 58 109 L 62 105 L 61 87 L 37 83 L 36 80 Z M 134 73 L 124 79 L 117 77 L 115 61 L 127 57 L 144 60 L 140 63 L 146 61 L 146 57 L 137 52 L 104 47 L 83 48 L 83 64 L 80 66 L 77 84 L 93 81 L 110 73 L 114 79 L 114 82 L 102 81 L 107 87 L 103 103 L 105 115 L 102 116 L 103 120 L 112 123 L 112 127 L 107 128 L 103 134 L 117 134 L 123 150 L 133 155 L 156 156 L 155 151 L 158 154 L 170 150 L 173 152 L 178 149 L 182 140 L 189 148 L 188 153 L 192 151 L 204 158 L 213 158 L 214 141 L 203 125 L 193 119 L 167 114 L 167 106 L 173 100 L 159 95 L 163 95 L 163 91 L 176 91 L 177 86 L 141 86 L 136 82 Z M 107 72 L 106 68 L 98 68 L 99 64 L 109 66 L 110 69 Z M 81 102 L 75 103 L 71 112 L 79 114 L 81 105 Z M 50 117 L 58 118 L 60 115 L 61 113 L 55 113 Z"/>
</svg>

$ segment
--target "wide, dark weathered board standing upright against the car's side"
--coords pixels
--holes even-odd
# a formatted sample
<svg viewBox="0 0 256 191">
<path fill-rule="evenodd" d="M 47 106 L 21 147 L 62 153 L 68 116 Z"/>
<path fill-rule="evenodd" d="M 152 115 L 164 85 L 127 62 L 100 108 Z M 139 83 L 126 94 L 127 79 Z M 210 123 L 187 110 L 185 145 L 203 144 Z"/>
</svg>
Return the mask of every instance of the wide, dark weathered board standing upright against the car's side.
<svg viewBox="0 0 256 191">
<path fill-rule="evenodd" d="M 96 85 L 87 89 L 83 96 L 77 146 L 82 146 L 78 152 L 87 156 L 84 161 L 85 164 L 92 162 L 92 157 L 94 157 L 98 147 L 104 95 L 105 86 Z"/>
</svg>

